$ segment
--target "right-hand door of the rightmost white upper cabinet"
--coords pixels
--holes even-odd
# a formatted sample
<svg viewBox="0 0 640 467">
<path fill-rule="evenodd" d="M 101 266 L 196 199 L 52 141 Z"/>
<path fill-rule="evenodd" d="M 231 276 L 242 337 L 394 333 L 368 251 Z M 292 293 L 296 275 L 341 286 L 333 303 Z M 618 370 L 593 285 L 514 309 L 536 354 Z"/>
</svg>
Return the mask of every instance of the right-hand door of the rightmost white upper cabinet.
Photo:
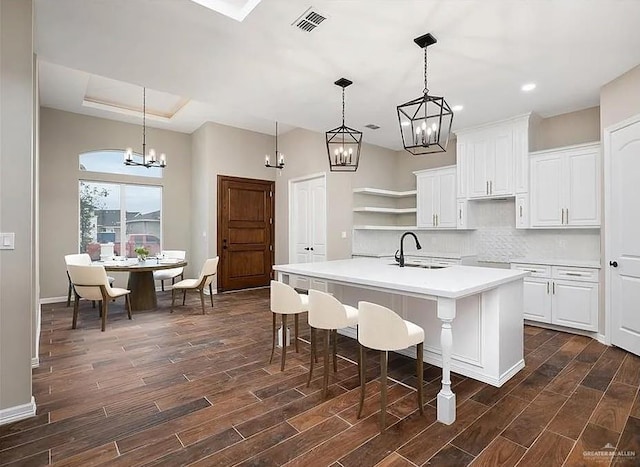
<svg viewBox="0 0 640 467">
<path fill-rule="evenodd" d="M 582 150 L 566 157 L 565 208 L 568 225 L 600 225 L 599 151 Z"/>
</svg>

